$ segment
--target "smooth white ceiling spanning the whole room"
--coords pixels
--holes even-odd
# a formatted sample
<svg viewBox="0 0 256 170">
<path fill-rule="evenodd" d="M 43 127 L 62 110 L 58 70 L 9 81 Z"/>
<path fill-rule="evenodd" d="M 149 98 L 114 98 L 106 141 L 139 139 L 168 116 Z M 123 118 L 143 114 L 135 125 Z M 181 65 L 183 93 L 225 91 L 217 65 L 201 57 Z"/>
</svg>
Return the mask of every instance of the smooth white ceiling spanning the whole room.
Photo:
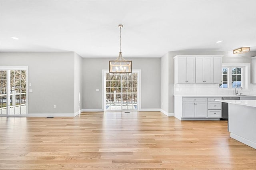
<svg viewBox="0 0 256 170">
<path fill-rule="evenodd" d="M 0 0 L 0 51 L 117 57 L 118 24 L 124 58 L 256 51 L 256 0 Z"/>
</svg>

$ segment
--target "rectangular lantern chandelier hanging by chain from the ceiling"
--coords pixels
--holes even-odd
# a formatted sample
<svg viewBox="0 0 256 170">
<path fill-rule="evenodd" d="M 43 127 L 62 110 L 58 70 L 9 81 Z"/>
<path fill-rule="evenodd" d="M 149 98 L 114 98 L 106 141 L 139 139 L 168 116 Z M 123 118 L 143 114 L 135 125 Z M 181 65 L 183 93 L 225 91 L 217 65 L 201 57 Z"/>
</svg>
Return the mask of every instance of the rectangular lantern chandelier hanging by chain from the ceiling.
<svg viewBox="0 0 256 170">
<path fill-rule="evenodd" d="M 116 60 L 109 61 L 109 73 L 132 73 L 132 61 L 125 60 L 121 52 L 121 29 L 123 25 L 118 25 L 120 29 L 120 51 Z"/>
</svg>

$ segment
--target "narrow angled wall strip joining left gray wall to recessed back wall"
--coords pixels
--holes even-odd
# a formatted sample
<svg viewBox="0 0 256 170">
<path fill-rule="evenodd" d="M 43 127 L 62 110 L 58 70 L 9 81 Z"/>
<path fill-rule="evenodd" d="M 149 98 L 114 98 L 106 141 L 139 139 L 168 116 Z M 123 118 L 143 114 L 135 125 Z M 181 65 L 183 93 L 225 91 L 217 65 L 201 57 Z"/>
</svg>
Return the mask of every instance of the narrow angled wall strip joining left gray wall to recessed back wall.
<svg viewBox="0 0 256 170">
<path fill-rule="evenodd" d="M 83 77 L 82 77 L 82 62 L 83 58 L 74 53 L 74 113 L 82 109 L 83 95 Z"/>
</svg>

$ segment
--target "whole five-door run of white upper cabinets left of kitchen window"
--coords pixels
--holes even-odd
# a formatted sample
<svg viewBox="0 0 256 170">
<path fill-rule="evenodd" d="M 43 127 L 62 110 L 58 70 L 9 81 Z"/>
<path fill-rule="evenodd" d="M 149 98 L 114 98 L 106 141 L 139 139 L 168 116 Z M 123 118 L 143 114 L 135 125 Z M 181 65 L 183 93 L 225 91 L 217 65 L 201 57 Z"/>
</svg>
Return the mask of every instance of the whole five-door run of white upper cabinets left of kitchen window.
<svg viewBox="0 0 256 170">
<path fill-rule="evenodd" d="M 174 84 L 221 83 L 222 55 L 176 55 Z"/>
</svg>

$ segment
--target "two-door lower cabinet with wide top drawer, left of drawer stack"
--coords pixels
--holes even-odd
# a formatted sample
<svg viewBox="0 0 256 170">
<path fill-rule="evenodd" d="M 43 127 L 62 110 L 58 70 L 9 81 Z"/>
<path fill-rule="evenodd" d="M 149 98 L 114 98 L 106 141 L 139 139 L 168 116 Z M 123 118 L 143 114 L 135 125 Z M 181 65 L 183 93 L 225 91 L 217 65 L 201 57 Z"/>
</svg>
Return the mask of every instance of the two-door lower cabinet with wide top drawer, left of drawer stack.
<svg viewBox="0 0 256 170">
<path fill-rule="evenodd" d="M 191 101 L 191 102 L 187 102 Z M 195 101 L 195 102 L 192 102 Z M 201 101 L 201 102 L 196 102 Z M 182 118 L 206 118 L 207 98 L 184 97 L 182 102 Z"/>
</svg>

